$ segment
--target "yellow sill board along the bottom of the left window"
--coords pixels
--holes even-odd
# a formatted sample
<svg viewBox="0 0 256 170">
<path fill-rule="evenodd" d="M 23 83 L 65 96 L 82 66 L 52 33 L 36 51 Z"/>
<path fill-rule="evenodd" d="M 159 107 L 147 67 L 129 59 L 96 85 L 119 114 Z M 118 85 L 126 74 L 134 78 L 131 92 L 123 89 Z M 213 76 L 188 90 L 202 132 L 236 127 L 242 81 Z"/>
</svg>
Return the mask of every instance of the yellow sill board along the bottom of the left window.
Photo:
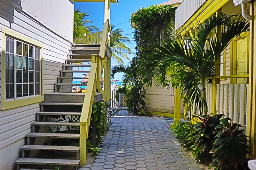
<svg viewBox="0 0 256 170">
<path fill-rule="evenodd" d="M 18 99 L 7 102 L 2 102 L 2 110 L 13 109 L 21 106 L 27 106 L 30 104 L 40 103 L 44 101 L 44 96 L 30 97 L 26 99 Z"/>
</svg>

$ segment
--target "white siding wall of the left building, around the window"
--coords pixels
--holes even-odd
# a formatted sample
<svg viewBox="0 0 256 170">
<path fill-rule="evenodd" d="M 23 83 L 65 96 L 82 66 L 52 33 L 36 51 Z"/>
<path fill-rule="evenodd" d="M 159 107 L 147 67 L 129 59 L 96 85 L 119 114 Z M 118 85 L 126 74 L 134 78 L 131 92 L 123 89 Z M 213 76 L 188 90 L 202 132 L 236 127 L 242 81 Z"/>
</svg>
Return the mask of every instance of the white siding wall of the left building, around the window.
<svg viewBox="0 0 256 170">
<path fill-rule="evenodd" d="M 36 1 L 40 2 L 48 2 L 50 4 L 50 0 L 21 0 L 22 6 L 26 7 L 27 10 L 32 7 L 29 6 L 31 4 L 26 4 L 27 2 Z M 65 6 L 65 9 L 70 7 L 70 10 L 61 8 L 57 8 L 55 1 L 59 2 L 59 7 Z M 60 3 L 63 2 L 63 3 Z M 42 5 L 42 6 L 40 6 Z M 65 63 L 65 59 L 67 59 L 67 54 L 69 53 L 69 49 L 71 47 L 71 42 L 68 38 L 65 38 L 61 34 L 65 34 L 67 37 L 72 39 L 73 32 L 73 16 L 64 17 L 63 12 L 70 13 L 72 11 L 73 14 L 73 4 L 70 3 L 69 0 L 54 0 L 51 1 L 51 7 L 47 6 L 47 3 L 43 3 L 40 5 L 36 5 L 34 7 L 34 15 L 36 17 L 27 14 L 26 12 L 18 12 L 12 7 L 8 6 L 3 0 L 0 0 L 0 56 L 1 56 L 1 47 L 2 47 L 2 27 L 11 29 L 12 31 L 18 32 L 24 36 L 29 37 L 30 39 L 34 39 L 39 41 L 44 46 L 44 92 L 53 92 L 53 84 L 57 82 L 57 77 L 60 76 L 59 70 L 62 69 L 62 64 Z M 61 28 L 59 25 L 60 21 L 56 19 L 58 17 L 61 18 L 60 15 L 45 14 L 44 12 L 39 12 L 39 8 L 50 8 L 56 10 L 55 12 L 60 12 L 61 17 L 67 20 L 65 28 Z M 3 9 L 4 8 L 4 9 Z M 43 16 L 48 15 L 48 18 L 52 18 L 55 21 L 55 26 L 52 21 L 45 20 L 46 24 L 41 21 L 37 21 L 36 18 L 39 18 L 40 15 L 36 14 L 38 11 L 41 14 L 42 20 L 44 20 Z M 45 9 L 47 12 L 48 10 Z M 33 12 L 33 11 L 31 11 Z M 4 17 L 3 17 L 4 16 Z M 68 22 L 68 17 L 70 22 Z M 47 23 L 48 22 L 48 23 Z M 71 27 L 69 28 L 70 25 Z M 55 30 L 51 30 L 50 28 Z M 67 28 L 68 27 L 68 28 Z M 64 32 L 65 29 L 68 29 L 67 32 Z M 58 32 L 56 32 L 58 31 Z M 1 56 L 2 57 L 2 56 Z M 1 62 L 1 60 L 0 60 Z M 1 73 L 0 73 L 1 79 Z M 1 93 L 1 88 L 0 88 Z M 1 100 L 1 97 L 0 97 Z M 1 108 L 1 107 L 0 107 Z M 35 122 L 35 113 L 38 112 L 39 104 L 32 104 L 20 108 L 15 108 L 11 110 L 0 111 L 0 169 L 1 170 L 12 170 L 14 168 L 14 161 L 19 157 L 19 148 L 24 145 L 25 135 L 31 131 L 31 123 Z M 4 156 L 8 153 L 6 156 Z"/>
</svg>

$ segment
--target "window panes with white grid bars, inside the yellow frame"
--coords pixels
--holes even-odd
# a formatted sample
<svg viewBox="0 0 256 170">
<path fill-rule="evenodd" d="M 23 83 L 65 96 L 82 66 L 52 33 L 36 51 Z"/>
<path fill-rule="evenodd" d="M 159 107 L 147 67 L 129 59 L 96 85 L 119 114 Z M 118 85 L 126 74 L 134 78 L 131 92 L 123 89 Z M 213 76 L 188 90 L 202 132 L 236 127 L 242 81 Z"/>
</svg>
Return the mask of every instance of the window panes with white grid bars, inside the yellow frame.
<svg viewBox="0 0 256 170">
<path fill-rule="evenodd" d="M 5 99 L 41 95 L 40 48 L 6 37 Z"/>
</svg>

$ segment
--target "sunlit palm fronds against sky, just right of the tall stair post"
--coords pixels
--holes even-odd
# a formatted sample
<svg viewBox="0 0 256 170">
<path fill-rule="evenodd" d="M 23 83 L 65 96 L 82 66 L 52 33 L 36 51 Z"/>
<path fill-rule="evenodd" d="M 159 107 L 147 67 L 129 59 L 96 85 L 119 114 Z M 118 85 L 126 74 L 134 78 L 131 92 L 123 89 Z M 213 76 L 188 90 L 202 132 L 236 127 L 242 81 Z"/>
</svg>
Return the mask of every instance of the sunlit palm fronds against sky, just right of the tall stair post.
<svg viewBox="0 0 256 170">
<path fill-rule="evenodd" d="M 128 59 L 127 53 L 131 53 L 131 49 L 128 48 L 124 43 L 130 43 L 130 39 L 128 37 L 123 36 L 123 30 L 119 28 L 115 28 L 114 25 L 110 25 L 111 34 L 113 36 L 110 37 L 110 49 L 112 51 L 112 59 L 116 60 L 118 64 L 124 65 L 124 61 L 122 58 Z"/>
</svg>

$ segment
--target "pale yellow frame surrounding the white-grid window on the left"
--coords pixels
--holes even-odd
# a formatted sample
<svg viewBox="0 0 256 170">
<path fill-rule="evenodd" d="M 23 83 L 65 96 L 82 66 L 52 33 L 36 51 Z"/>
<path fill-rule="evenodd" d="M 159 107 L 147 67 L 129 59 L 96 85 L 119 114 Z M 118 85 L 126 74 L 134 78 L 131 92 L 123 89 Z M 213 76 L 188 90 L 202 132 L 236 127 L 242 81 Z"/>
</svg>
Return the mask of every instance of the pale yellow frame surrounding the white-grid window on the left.
<svg viewBox="0 0 256 170">
<path fill-rule="evenodd" d="M 5 101 L 5 36 L 11 36 L 15 39 L 19 39 L 23 42 L 31 44 L 33 46 L 41 48 L 41 96 L 33 96 L 25 99 L 16 99 L 12 101 Z M 2 60 L 1 60 L 1 79 L 2 79 L 2 108 L 1 110 L 13 109 L 21 106 L 27 106 L 30 104 L 40 103 L 44 101 L 44 46 L 42 43 L 21 35 L 18 32 L 12 31 L 7 28 L 2 28 Z"/>
</svg>

